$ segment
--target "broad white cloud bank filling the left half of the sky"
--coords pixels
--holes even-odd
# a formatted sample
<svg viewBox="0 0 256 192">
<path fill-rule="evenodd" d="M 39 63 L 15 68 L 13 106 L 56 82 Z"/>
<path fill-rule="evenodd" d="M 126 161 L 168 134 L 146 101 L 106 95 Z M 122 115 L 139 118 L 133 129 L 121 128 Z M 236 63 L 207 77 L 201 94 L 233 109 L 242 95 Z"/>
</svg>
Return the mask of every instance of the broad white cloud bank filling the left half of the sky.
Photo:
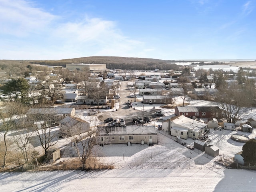
<svg viewBox="0 0 256 192">
<path fill-rule="evenodd" d="M 0 39 L 10 48 L 0 45 L 0 58 L 140 57 L 144 50 L 143 42 L 122 34 L 114 21 L 88 16 L 63 21 L 24 0 L 0 0 L 0 17 Z"/>
</svg>

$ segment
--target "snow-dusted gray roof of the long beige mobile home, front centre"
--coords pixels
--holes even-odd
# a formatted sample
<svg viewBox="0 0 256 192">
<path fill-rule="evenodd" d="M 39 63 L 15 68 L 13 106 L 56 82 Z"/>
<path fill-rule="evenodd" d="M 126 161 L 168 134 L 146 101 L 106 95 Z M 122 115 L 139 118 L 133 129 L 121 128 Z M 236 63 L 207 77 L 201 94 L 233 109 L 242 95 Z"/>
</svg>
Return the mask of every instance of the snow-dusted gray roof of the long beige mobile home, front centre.
<svg viewBox="0 0 256 192">
<path fill-rule="evenodd" d="M 100 135 L 152 135 L 156 133 L 155 126 L 118 126 L 102 127 Z"/>
</svg>

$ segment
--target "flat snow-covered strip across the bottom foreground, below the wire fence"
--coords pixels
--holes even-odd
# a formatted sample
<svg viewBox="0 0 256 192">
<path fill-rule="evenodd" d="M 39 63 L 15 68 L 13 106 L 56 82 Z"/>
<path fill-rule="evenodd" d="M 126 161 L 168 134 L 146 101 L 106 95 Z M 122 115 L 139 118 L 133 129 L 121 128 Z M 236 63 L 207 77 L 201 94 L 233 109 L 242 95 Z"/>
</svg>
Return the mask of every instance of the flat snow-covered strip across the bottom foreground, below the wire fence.
<svg viewBox="0 0 256 192">
<path fill-rule="evenodd" d="M 1 173 L 0 189 L 8 192 L 250 192 L 256 171 L 228 169 L 125 169 L 93 172 Z"/>
</svg>

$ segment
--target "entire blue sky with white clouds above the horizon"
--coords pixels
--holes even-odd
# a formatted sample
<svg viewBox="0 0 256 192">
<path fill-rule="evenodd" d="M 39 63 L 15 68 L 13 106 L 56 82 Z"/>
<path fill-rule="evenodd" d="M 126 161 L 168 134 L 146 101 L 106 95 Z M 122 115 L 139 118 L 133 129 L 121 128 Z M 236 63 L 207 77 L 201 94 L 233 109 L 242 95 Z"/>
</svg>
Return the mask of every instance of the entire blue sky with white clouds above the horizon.
<svg viewBox="0 0 256 192">
<path fill-rule="evenodd" d="M 256 59 L 256 0 L 0 0 L 0 59 Z"/>
</svg>

